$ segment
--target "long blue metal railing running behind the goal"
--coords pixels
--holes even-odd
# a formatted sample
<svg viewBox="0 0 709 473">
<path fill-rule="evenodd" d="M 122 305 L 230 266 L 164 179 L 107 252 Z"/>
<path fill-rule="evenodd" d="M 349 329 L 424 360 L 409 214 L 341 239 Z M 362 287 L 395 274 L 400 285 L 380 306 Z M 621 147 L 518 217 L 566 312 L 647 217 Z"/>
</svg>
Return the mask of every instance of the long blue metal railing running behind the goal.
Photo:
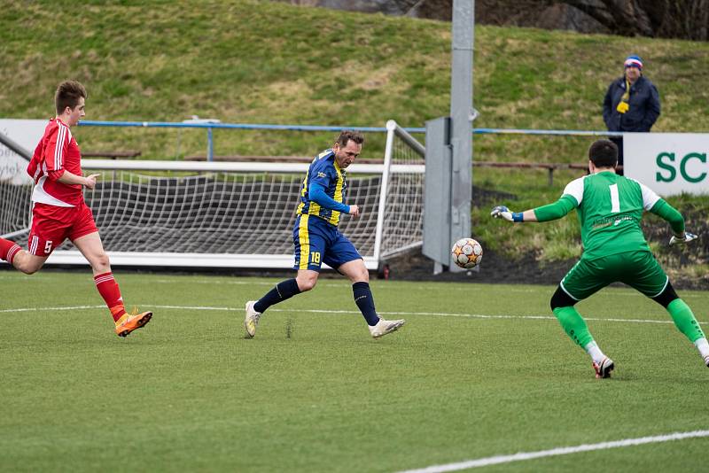
<svg viewBox="0 0 709 473">
<path fill-rule="evenodd" d="M 269 125 L 265 123 L 221 123 L 212 120 L 192 122 L 173 121 L 103 121 L 82 120 L 82 127 L 140 127 L 140 128 L 206 128 L 208 161 L 214 160 L 214 128 L 247 130 L 288 130 L 288 131 L 342 131 L 351 129 L 368 133 L 386 133 L 386 127 L 337 127 L 326 125 Z M 403 128 L 409 133 L 425 133 L 422 127 Z M 518 129 L 518 128 L 472 128 L 473 135 L 550 135 L 550 136 L 623 136 L 618 131 L 558 130 L 558 129 Z"/>
</svg>

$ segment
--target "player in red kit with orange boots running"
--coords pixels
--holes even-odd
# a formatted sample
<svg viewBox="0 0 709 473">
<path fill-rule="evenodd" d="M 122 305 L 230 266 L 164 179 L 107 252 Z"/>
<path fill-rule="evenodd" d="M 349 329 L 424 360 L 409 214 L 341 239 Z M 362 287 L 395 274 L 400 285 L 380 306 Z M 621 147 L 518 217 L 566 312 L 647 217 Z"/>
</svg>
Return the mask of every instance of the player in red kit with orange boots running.
<svg viewBox="0 0 709 473">
<path fill-rule="evenodd" d="M 126 313 L 93 213 L 83 200 L 83 188 L 93 189 L 100 175 L 83 176 L 81 151 L 70 129 L 86 114 L 85 100 L 86 89 L 80 82 L 59 84 L 54 97 L 57 118 L 44 129 L 27 167 L 27 173 L 35 180 L 27 251 L 0 238 L 0 259 L 31 275 L 69 238 L 93 269 L 97 290 L 113 315 L 116 334 L 126 337 L 150 322 L 152 312 Z"/>
</svg>

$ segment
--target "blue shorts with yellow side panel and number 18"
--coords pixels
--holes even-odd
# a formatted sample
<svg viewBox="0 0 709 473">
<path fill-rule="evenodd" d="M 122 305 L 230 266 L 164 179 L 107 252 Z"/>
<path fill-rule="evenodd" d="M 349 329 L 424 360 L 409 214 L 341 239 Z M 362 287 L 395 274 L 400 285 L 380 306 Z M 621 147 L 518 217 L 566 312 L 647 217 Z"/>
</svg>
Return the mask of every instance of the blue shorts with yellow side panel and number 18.
<svg viewBox="0 0 709 473">
<path fill-rule="evenodd" d="M 298 215 L 295 219 L 293 244 L 293 269 L 320 271 L 323 263 L 336 269 L 349 261 L 362 260 L 354 244 L 337 227 L 314 215 Z"/>
</svg>

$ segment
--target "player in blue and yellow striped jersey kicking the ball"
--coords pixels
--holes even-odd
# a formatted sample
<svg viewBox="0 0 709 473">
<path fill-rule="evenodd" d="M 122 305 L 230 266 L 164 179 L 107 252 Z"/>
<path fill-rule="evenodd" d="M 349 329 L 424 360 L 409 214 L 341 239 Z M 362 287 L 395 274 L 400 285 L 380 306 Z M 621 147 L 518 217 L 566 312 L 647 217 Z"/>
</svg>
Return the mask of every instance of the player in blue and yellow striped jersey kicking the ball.
<svg viewBox="0 0 709 473">
<path fill-rule="evenodd" d="M 404 324 L 403 320 L 386 321 L 378 316 L 370 291 L 370 273 L 354 244 L 338 229 L 343 213 L 353 217 L 360 215 L 357 205 L 345 204 L 345 169 L 362 152 L 362 143 L 362 134 L 343 131 L 332 148 L 318 154 L 308 167 L 293 228 L 293 269 L 297 269 L 298 274 L 293 279 L 277 283 L 261 299 L 246 302 L 246 337 L 254 336 L 261 314 L 269 306 L 313 289 L 323 263 L 352 282 L 354 303 L 367 321 L 372 337 L 382 337 Z"/>
</svg>

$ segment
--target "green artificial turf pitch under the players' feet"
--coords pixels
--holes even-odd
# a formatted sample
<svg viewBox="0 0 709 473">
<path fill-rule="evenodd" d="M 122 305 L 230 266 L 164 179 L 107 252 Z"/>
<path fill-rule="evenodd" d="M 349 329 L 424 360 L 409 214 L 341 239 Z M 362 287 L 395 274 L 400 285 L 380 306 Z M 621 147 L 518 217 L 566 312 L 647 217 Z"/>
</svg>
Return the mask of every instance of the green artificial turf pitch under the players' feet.
<svg viewBox="0 0 709 473">
<path fill-rule="evenodd" d="M 0 470 L 397 471 L 709 427 L 707 370 L 655 303 L 612 288 L 579 304 L 616 361 L 596 380 L 549 313 L 552 287 L 374 281 L 407 319 L 373 340 L 343 279 L 273 307 L 277 280 L 122 274 L 153 308 L 126 339 L 89 271 L 0 271 Z M 709 294 L 682 291 L 700 322 Z M 72 308 L 73 307 L 73 308 Z M 709 438 L 486 471 L 699 471 Z"/>
</svg>

